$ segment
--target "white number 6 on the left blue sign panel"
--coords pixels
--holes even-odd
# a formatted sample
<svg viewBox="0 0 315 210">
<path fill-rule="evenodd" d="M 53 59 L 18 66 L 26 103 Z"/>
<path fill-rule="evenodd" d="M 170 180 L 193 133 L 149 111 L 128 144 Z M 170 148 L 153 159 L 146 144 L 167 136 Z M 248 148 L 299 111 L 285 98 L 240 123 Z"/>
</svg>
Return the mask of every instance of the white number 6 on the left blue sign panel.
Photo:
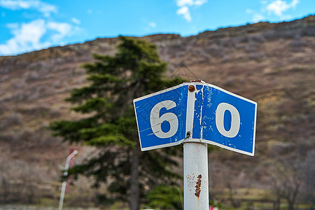
<svg viewBox="0 0 315 210">
<path fill-rule="evenodd" d="M 176 134 L 177 129 L 179 128 L 179 119 L 177 118 L 177 116 L 172 112 L 165 113 L 162 116 L 160 116 L 160 111 L 162 108 L 169 110 L 174 107 L 176 107 L 176 103 L 171 100 L 163 101 L 153 106 L 153 109 L 151 110 L 150 114 L 150 123 L 155 136 L 161 139 L 165 139 L 172 137 Z M 167 121 L 170 126 L 168 132 L 162 131 L 162 123 L 165 121 Z"/>
</svg>

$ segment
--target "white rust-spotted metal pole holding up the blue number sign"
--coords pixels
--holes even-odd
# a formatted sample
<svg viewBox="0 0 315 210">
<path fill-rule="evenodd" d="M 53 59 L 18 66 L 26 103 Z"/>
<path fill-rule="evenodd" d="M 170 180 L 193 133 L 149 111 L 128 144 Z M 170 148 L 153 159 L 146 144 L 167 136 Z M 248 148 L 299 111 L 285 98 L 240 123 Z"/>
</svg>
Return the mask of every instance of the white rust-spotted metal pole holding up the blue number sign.
<svg viewBox="0 0 315 210">
<path fill-rule="evenodd" d="M 207 144 L 193 139 L 195 93 L 200 83 L 202 81 L 193 82 L 188 87 L 187 138 L 183 143 L 184 210 L 209 209 L 208 148 Z"/>
</svg>

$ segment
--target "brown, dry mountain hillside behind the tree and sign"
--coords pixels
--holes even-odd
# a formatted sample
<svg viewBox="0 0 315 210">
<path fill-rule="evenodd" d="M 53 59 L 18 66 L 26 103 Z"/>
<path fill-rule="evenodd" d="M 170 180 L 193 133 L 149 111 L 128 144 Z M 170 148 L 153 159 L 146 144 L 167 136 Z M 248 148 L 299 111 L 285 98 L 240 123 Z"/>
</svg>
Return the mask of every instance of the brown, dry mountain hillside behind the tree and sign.
<svg viewBox="0 0 315 210">
<path fill-rule="evenodd" d="M 169 63 L 169 77 L 204 80 L 258 103 L 255 156 L 222 149 L 211 153 L 211 197 L 233 204 L 246 195 L 241 189 L 276 190 L 278 175 L 286 173 L 291 175 L 285 182 L 299 180 L 299 200 L 314 202 L 314 15 L 189 37 L 140 38 L 158 46 L 160 57 Z M 46 127 L 52 120 L 80 118 L 64 102 L 73 87 L 87 84 L 80 65 L 93 62 L 92 53 L 113 55 L 117 43 L 117 38 L 98 38 L 0 57 L 0 202 L 57 199 L 58 164 L 64 165 L 70 148 L 79 149 L 78 162 L 95 151 L 51 137 Z M 87 183 L 82 179 L 78 186 L 85 189 Z"/>
</svg>

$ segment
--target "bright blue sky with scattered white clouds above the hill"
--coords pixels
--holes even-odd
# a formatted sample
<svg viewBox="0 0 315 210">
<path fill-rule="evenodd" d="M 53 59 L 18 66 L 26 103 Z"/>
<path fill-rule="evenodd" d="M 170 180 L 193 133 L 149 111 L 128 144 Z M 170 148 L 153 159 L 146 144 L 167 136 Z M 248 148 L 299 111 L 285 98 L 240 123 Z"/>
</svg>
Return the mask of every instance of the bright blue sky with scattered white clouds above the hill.
<svg viewBox="0 0 315 210">
<path fill-rule="evenodd" d="M 0 56 L 95 38 L 197 35 L 315 14 L 315 0 L 0 0 Z"/>
</svg>

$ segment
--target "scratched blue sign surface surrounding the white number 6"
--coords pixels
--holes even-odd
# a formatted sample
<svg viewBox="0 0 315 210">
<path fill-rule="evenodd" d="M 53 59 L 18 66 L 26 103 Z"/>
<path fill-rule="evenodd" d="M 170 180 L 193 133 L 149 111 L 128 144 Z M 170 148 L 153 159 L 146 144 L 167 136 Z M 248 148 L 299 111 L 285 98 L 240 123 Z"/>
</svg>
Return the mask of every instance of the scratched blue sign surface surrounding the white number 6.
<svg viewBox="0 0 315 210">
<path fill-rule="evenodd" d="M 150 148 L 152 146 L 163 146 L 170 143 L 176 143 L 186 138 L 187 92 L 188 85 L 184 85 L 177 87 L 174 90 L 162 92 L 160 94 L 153 95 L 152 97 L 146 97 L 145 99 L 134 102 L 142 149 Z M 174 136 L 161 139 L 153 134 L 150 122 L 150 113 L 153 109 L 153 106 L 166 100 L 172 100 L 175 102 L 176 107 L 169 110 L 165 108 L 161 109 L 160 116 L 162 116 L 164 113 L 174 113 L 179 120 L 179 127 Z M 169 131 L 169 127 L 169 123 L 162 123 L 163 132 Z"/>
</svg>

